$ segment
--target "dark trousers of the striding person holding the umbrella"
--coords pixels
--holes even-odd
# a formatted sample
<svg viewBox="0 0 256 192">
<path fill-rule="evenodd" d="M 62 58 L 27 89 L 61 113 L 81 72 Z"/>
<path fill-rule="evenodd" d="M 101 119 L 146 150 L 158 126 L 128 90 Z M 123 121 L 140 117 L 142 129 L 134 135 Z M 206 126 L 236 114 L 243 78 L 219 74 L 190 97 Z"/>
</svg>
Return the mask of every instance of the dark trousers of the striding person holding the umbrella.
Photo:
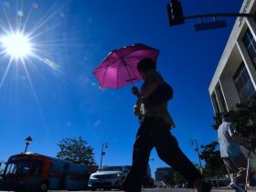
<svg viewBox="0 0 256 192">
<path fill-rule="evenodd" d="M 187 181 L 202 178 L 197 168 L 188 160 L 178 147 L 176 138 L 161 117 L 147 117 L 141 124 L 133 144 L 133 165 L 123 182 L 123 190 L 139 192 L 146 174 L 146 167 L 151 150 L 155 147 L 159 157 L 175 168 Z"/>
</svg>

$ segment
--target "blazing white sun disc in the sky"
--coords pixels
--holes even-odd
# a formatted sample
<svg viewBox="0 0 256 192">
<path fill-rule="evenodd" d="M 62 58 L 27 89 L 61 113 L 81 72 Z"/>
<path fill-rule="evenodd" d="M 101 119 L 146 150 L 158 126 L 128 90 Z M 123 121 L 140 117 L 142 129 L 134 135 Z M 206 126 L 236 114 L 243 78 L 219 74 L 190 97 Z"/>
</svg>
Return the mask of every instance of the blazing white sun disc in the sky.
<svg viewBox="0 0 256 192">
<path fill-rule="evenodd" d="M 0 37 L 0 42 L 5 49 L 5 53 L 13 59 L 25 59 L 32 54 L 30 39 L 21 33 Z"/>
</svg>

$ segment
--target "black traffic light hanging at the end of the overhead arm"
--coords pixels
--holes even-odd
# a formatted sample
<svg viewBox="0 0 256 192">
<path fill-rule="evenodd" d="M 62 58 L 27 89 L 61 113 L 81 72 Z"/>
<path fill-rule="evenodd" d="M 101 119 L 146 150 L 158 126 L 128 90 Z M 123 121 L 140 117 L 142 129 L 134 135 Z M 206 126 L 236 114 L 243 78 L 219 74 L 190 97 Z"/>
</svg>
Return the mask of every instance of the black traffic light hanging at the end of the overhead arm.
<svg viewBox="0 0 256 192">
<path fill-rule="evenodd" d="M 179 0 L 171 0 L 170 4 L 167 5 L 167 12 L 170 26 L 184 24 L 182 6 Z"/>
</svg>

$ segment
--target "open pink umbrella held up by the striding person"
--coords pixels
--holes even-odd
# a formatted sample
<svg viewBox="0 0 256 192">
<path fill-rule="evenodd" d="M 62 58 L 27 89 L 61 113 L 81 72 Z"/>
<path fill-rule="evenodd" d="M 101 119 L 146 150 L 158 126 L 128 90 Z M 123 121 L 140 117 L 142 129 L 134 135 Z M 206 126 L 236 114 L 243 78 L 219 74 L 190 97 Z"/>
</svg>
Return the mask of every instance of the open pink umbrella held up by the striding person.
<svg viewBox="0 0 256 192">
<path fill-rule="evenodd" d="M 120 88 L 141 80 L 136 69 L 138 62 L 146 58 L 156 61 L 158 53 L 159 50 L 144 44 L 133 44 L 113 50 L 93 74 L 99 80 L 101 88 Z"/>
</svg>

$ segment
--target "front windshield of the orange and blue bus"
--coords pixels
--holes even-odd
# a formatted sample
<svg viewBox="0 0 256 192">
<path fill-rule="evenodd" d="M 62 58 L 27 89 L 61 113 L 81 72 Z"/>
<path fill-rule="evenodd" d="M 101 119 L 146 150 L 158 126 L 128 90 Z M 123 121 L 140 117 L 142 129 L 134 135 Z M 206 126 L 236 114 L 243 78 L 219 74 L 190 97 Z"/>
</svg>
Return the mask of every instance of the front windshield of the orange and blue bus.
<svg viewBox="0 0 256 192">
<path fill-rule="evenodd" d="M 26 176 L 29 174 L 30 160 L 10 161 L 5 168 L 5 175 Z"/>
</svg>

